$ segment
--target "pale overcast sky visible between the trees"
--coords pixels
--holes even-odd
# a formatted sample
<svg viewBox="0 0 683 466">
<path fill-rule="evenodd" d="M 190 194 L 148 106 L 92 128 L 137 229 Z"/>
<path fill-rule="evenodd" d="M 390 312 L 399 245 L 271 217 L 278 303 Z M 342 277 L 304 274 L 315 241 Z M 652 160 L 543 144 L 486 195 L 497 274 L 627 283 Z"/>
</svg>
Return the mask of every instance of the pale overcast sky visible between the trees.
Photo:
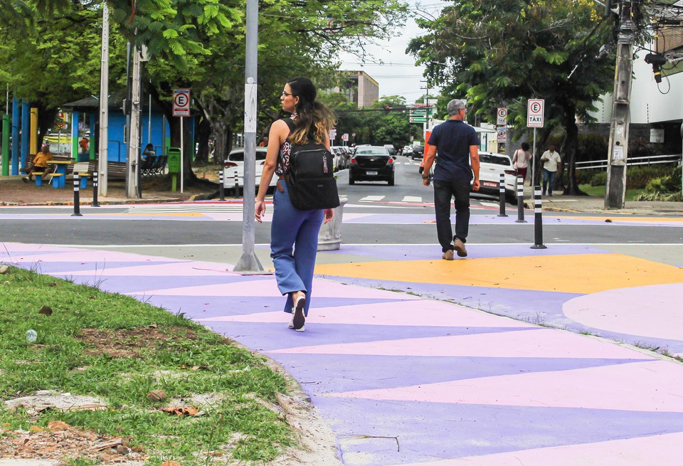
<svg viewBox="0 0 683 466">
<path fill-rule="evenodd" d="M 378 46 L 367 46 L 369 52 L 366 63 L 350 53 L 342 55 L 342 70 L 361 70 L 369 74 L 379 83 L 379 95 L 401 95 L 407 103 L 414 103 L 425 92 L 426 83 L 423 77 L 423 67 L 415 66 L 413 55 L 406 54 L 408 42 L 411 38 L 425 33 L 418 27 L 413 19 L 418 14 L 431 14 L 438 16 L 445 2 L 440 0 L 409 1 L 411 10 L 406 25 L 397 29 L 397 35 L 388 41 L 383 41 Z M 379 64 L 383 63 L 383 64 Z M 430 88 L 429 95 L 436 95 L 438 89 Z M 423 102 L 420 100 L 420 102 Z"/>
</svg>

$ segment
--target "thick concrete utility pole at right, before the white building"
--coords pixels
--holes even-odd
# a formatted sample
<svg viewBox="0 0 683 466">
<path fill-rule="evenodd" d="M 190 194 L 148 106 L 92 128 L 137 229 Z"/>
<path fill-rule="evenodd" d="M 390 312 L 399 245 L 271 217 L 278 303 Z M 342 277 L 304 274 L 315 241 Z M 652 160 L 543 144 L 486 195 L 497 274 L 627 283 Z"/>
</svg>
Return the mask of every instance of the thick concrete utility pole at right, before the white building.
<svg viewBox="0 0 683 466">
<path fill-rule="evenodd" d="M 635 32 L 636 26 L 632 17 L 632 1 L 621 0 L 619 6 L 619 33 L 617 36 L 617 62 L 614 75 L 607 185 L 605 186 L 605 208 L 624 208 Z"/>
</svg>

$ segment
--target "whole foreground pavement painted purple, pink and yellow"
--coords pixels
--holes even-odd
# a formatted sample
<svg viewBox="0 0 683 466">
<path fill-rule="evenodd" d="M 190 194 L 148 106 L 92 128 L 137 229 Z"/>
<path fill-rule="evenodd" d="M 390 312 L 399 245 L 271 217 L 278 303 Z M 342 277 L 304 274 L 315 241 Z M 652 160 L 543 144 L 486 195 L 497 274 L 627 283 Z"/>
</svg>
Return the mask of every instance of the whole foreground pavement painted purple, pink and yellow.
<svg viewBox="0 0 683 466">
<path fill-rule="evenodd" d="M 434 248 L 320 253 L 305 333 L 287 329 L 272 275 L 227 263 L 18 243 L 0 260 L 185 312 L 270 356 L 349 466 L 680 464 L 682 364 L 534 322 L 683 352 L 683 261 L 586 245 L 424 260 Z"/>
</svg>

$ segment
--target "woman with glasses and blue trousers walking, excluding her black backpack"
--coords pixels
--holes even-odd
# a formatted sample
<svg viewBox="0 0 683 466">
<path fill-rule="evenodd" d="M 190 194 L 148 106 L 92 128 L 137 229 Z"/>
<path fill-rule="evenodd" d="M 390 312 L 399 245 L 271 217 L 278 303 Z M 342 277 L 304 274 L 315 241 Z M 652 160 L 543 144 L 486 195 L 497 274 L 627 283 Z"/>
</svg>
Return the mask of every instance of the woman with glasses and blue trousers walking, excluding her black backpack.
<svg viewBox="0 0 683 466">
<path fill-rule="evenodd" d="M 291 312 L 289 328 L 305 331 L 311 302 L 313 269 L 320 226 L 332 220 L 332 209 L 302 211 L 287 194 L 285 176 L 289 170 L 290 144 L 315 142 L 329 150 L 329 130 L 334 127 L 333 113 L 315 97 L 317 90 L 308 78 L 294 78 L 285 84 L 280 96 L 282 110 L 292 117 L 272 123 L 268 134 L 268 153 L 256 196 L 255 218 L 265 215 L 265 194 L 273 174 L 277 189 L 273 195 L 270 226 L 270 258 L 275 265 L 277 288 L 287 295 L 285 312 Z"/>
</svg>

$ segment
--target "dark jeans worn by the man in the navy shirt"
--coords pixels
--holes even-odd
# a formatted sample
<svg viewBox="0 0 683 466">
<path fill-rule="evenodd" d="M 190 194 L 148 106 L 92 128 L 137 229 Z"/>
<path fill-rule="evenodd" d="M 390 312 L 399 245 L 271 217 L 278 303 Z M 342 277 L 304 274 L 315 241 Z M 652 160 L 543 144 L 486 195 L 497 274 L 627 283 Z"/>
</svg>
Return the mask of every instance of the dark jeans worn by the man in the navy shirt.
<svg viewBox="0 0 683 466">
<path fill-rule="evenodd" d="M 441 250 L 445 253 L 453 248 L 453 240 L 467 242 L 470 229 L 470 181 L 433 181 L 434 210 L 436 213 L 436 234 Z M 450 224 L 450 201 L 455 198 L 455 236 Z"/>
</svg>

